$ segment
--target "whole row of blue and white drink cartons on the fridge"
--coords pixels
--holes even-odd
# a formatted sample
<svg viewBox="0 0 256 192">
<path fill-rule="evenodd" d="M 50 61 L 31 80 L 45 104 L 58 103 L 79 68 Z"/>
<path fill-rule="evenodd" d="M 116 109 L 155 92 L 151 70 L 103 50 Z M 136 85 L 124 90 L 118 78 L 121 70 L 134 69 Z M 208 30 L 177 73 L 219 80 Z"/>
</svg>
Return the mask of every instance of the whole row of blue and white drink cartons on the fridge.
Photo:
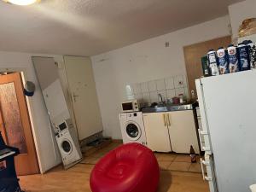
<svg viewBox="0 0 256 192">
<path fill-rule="evenodd" d="M 201 58 L 204 76 L 236 73 L 256 68 L 256 44 L 243 41 L 238 46 L 230 44 L 227 49 L 210 49 L 207 56 Z"/>
</svg>

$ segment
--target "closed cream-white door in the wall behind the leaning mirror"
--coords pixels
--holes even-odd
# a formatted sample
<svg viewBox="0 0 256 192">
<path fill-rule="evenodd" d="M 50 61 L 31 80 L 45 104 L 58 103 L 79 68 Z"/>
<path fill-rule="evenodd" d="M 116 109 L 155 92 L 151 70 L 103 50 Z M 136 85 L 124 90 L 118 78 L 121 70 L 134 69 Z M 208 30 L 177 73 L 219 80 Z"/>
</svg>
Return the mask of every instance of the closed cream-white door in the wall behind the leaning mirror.
<svg viewBox="0 0 256 192">
<path fill-rule="evenodd" d="M 64 56 L 79 140 L 102 131 L 102 118 L 90 58 Z"/>
</svg>

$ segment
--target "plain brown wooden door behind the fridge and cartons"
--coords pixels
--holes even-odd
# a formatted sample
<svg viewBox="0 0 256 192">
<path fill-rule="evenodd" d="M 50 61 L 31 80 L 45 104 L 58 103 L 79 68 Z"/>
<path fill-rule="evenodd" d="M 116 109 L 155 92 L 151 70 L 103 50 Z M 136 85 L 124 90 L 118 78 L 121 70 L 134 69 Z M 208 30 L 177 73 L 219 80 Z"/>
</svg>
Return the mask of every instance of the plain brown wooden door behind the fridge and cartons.
<svg viewBox="0 0 256 192">
<path fill-rule="evenodd" d="M 210 41 L 183 47 L 190 96 L 191 90 L 194 90 L 195 97 L 197 98 L 195 89 L 195 79 L 199 79 L 201 78 L 201 76 L 203 76 L 201 67 L 201 57 L 207 55 L 209 49 L 217 50 L 219 47 L 227 47 L 230 43 L 231 37 L 227 36 L 224 38 L 215 38 Z"/>
</svg>

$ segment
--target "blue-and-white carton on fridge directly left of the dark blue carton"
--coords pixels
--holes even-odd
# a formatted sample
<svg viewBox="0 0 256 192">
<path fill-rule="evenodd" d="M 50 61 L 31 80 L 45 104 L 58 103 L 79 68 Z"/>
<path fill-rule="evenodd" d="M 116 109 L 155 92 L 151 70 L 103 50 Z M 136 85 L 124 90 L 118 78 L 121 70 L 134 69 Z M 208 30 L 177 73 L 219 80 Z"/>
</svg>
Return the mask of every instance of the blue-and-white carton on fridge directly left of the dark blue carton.
<svg viewBox="0 0 256 192">
<path fill-rule="evenodd" d="M 238 51 L 233 44 L 230 44 L 228 47 L 228 58 L 229 58 L 230 73 L 239 72 L 240 69 L 239 69 Z"/>
</svg>

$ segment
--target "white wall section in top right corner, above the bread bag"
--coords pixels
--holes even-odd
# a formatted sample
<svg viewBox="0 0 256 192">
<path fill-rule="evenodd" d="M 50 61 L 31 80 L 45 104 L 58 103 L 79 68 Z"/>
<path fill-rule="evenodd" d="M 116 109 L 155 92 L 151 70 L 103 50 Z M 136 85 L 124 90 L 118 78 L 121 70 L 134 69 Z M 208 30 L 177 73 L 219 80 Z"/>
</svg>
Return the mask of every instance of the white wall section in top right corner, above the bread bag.
<svg viewBox="0 0 256 192">
<path fill-rule="evenodd" d="M 229 12 L 233 38 L 236 39 L 242 20 L 256 18 L 256 1 L 246 0 L 241 3 L 232 4 L 229 6 Z"/>
</svg>

